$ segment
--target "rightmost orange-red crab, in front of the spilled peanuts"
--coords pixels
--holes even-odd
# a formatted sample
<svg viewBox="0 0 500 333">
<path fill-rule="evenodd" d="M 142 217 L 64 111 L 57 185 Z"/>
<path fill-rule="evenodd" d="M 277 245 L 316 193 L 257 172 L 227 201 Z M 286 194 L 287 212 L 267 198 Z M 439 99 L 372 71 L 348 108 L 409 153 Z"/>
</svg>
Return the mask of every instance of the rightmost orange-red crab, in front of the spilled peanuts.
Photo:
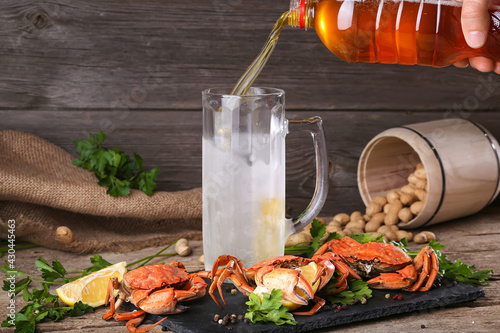
<svg viewBox="0 0 500 333">
<path fill-rule="evenodd" d="M 359 275 L 371 278 L 367 281 L 368 285 L 375 289 L 427 291 L 439 270 L 437 255 L 430 246 L 422 248 L 412 260 L 406 252 L 392 244 L 360 244 L 344 237 L 325 243 L 315 255 L 324 255 L 328 250 L 339 255 Z"/>
</svg>

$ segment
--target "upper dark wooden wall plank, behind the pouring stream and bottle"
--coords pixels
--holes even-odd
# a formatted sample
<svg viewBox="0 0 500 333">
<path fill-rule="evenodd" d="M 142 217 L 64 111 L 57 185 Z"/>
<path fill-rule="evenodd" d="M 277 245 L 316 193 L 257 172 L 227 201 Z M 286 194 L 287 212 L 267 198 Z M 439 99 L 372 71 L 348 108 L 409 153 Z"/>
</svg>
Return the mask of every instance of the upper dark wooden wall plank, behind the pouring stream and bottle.
<svg viewBox="0 0 500 333">
<path fill-rule="evenodd" d="M 199 109 L 233 85 L 288 1 L 5 0 L 0 108 Z M 491 80 L 491 94 L 480 88 Z M 257 81 L 290 109 L 498 110 L 498 75 L 473 69 L 347 64 L 313 30 L 287 28 Z M 479 88 L 478 88 L 479 87 Z"/>
</svg>

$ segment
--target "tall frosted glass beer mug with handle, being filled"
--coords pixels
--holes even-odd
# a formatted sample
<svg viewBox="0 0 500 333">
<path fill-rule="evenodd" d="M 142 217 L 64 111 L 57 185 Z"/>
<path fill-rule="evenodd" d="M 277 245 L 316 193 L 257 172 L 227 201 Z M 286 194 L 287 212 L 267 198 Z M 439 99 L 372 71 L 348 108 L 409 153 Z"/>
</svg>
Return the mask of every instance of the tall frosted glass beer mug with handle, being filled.
<svg viewBox="0 0 500 333">
<path fill-rule="evenodd" d="M 274 88 L 209 89 L 203 96 L 203 252 L 205 269 L 220 255 L 245 267 L 283 255 L 286 238 L 321 210 L 328 191 L 322 121 L 285 118 L 285 92 Z M 313 138 L 316 189 L 307 209 L 285 218 L 285 136 L 304 127 Z"/>
</svg>

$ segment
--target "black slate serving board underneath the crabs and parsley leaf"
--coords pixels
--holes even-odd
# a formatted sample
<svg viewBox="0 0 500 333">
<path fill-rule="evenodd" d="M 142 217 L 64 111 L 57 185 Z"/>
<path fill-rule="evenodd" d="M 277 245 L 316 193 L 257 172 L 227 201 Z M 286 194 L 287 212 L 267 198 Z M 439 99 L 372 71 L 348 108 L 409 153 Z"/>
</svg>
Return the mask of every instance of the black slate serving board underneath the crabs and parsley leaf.
<svg viewBox="0 0 500 333">
<path fill-rule="evenodd" d="M 225 288 L 223 288 L 225 289 Z M 393 300 L 386 299 L 385 295 L 402 295 L 403 299 Z M 346 309 L 335 311 L 332 308 L 321 310 L 314 316 L 295 316 L 297 325 L 282 325 L 274 324 L 246 324 L 238 321 L 236 324 L 229 324 L 233 331 L 242 333 L 284 333 L 284 332 L 306 332 L 314 329 L 333 327 L 342 324 L 353 323 L 357 321 L 386 317 L 395 314 L 408 313 L 414 311 L 423 311 L 446 305 L 470 302 L 485 296 L 484 290 L 463 284 L 452 283 L 448 280 L 442 280 L 442 286 L 431 289 L 427 292 L 404 292 L 400 290 L 373 290 L 373 297 L 366 304 L 355 304 L 348 306 Z M 220 309 L 209 295 L 202 299 L 183 303 L 189 306 L 186 312 L 169 315 L 168 319 L 160 325 L 167 327 L 177 333 L 203 333 L 203 332 L 227 332 L 228 326 L 222 326 L 214 322 L 214 315 L 217 313 L 221 316 L 226 314 L 245 314 L 247 305 L 245 302 L 248 297 L 238 292 L 237 295 L 231 295 L 229 292 L 224 292 L 224 297 L 228 306 Z M 312 303 L 312 302 L 311 302 Z M 122 306 L 122 311 L 131 311 L 136 309 L 130 303 L 125 303 Z M 302 308 L 300 309 L 302 311 Z M 163 316 L 148 314 L 147 319 L 157 322 Z M 145 322 L 143 326 L 149 325 L 150 322 Z"/>
</svg>

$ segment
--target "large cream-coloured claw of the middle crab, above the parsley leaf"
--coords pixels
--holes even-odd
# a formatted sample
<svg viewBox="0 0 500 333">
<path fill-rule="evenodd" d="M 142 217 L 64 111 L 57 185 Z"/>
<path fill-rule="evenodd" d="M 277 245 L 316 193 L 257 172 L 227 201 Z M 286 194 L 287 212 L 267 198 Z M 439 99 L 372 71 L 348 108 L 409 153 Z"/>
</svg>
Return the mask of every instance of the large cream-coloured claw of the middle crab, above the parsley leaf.
<svg viewBox="0 0 500 333">
<path fill-rule="evenodd" d="M 314 298 L 311 284 L 300 270 L 270 266 L 268 269 L 259 271 L 259 275 L 262 277 L 262 284 L 269 290 L 281 289 L 283 300 L 307 305 L 308 300 Z M 301 290 L 306 297 L 298 295 L 297 289 Z"/>
</svg>

